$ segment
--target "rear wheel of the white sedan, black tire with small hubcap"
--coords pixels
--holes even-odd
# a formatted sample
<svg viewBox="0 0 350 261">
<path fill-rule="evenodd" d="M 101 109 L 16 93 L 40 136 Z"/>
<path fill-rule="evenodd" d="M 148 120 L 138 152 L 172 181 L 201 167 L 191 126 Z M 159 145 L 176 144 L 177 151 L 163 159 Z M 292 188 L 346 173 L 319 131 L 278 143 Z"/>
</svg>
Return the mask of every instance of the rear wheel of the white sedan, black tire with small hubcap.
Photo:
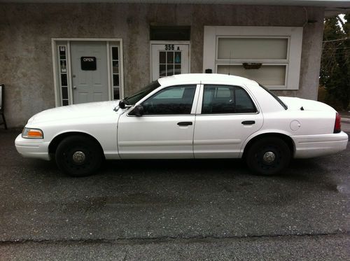
<svg viewBox="0 0 350 261">
<path fill-rule="evenodd" d="M 270 176 L 288 167 L 290 149 L 285 141 L 276 137 L 258 139 L 248 148 L 246 164 L 255 174 Z"/>
</svg>

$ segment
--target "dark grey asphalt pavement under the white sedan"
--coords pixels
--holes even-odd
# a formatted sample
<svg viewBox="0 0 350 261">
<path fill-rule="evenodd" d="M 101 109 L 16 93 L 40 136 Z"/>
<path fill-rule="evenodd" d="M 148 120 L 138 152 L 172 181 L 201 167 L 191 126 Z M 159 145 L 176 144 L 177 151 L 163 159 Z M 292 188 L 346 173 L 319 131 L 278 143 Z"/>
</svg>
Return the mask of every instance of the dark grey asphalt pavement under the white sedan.
<svg viewBox="0 0 350 261">
<path fill-rule="evenodd" d="M 106 162 L 70 178 L 0 132 L 0 260 L 349 260 L 350 147 L 253 176 L 239 160 Z"/>
</svg>

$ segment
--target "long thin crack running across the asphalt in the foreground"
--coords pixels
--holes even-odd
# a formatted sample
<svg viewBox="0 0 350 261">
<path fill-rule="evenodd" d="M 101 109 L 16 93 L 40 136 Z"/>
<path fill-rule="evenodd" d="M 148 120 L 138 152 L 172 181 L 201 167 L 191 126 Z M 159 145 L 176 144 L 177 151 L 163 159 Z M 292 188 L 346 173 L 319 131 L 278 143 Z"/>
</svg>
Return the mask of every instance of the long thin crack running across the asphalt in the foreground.
<svg viewBox="0 0 350 261">
<path fill-rule="evenodd" d="M 273 238 L 293 238 L 293 237 L 332 237 L 332 236 L 350 236 L 350 231 L 334 232 L 334 233 L 304 233 L 304 234 L 274 234 L 274 235 L 247 235 L 247 236 L 203 236 L 203 237 L 139 237 L 131 239 L 16 239 L 16 240 L 0 240 L 1 245 L 7 244 L 26 244 L 26 243 L 86 243 L 86 244 L 101 244 L 101 243 L 118 243 L 118 244 L 153 244 L 153 243 L 169 243 L 169 242 L 211 242 L 228 239 L 273 239 Z"/>
</svg>

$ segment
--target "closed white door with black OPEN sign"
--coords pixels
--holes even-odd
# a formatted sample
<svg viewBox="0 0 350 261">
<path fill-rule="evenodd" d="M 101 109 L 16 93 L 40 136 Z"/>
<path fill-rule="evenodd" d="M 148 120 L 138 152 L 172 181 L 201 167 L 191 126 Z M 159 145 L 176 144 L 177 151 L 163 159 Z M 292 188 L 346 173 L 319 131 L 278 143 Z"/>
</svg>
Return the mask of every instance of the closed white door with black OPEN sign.
<svg viewBox="0 0 350 261">
<path fill-rule="evenodd" d="M 73 104 L 108 101 L 106 42 L 71 42 Z"/>
</svg>

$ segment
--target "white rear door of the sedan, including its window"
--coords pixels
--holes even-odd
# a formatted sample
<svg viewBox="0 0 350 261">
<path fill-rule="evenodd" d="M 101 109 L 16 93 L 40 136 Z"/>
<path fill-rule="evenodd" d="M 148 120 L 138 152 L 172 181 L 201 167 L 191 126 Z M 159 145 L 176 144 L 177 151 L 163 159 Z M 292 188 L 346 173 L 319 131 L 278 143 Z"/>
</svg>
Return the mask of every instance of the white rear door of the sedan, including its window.
<svg viewBox="0 0 350 261">
<path fill-rule="evenodd" d="M 201 85 L 194 134 L 195 158 L 239 157 L 244 141 L 262 127 L 262 113 L 243 87 Z"/>
</svg>

